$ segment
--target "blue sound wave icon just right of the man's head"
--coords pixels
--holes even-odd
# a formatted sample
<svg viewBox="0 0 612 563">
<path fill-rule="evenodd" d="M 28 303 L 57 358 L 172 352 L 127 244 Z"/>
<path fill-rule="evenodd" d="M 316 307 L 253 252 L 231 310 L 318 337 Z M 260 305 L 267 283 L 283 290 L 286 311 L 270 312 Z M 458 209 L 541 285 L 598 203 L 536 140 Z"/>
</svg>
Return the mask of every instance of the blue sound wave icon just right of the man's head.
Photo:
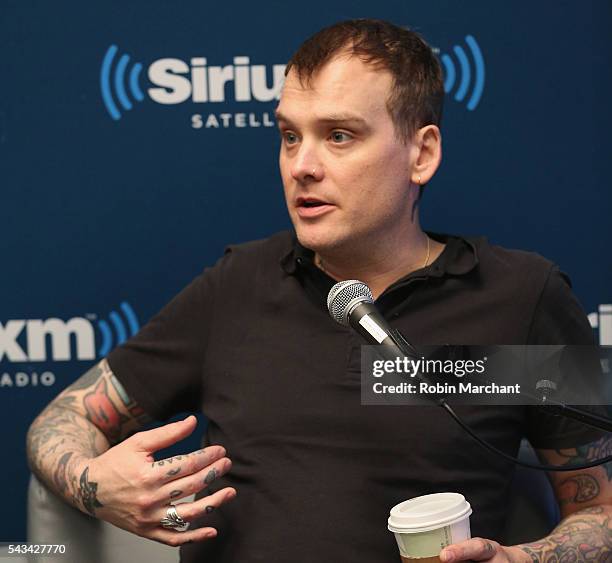
<svg viewBox="0 0 612 563">
<path fill-rule="evenodd" d="M 442 59 L 446 75 L 444 79 L 444 91 L 449 94 L 455 87 L 455 82 L 458 82 L 454 98 L 457 102 L 463 102 L 468 95 L 470 86 L 472 86 L 472 93 L 467 100 L 466 107 L 469 111 L 473 111 L 478 106 L 484 90 L 485 64 L 482 51 L 476 39 L 474 39 L 472 35 L 466 35 L 465 42 L 472 55 L 473 76 L 468 56 L 461 45 L 453 47 L 453 53 L 458 61 L 459 72 L 457 72 L 455 62 L 450 55 L 443 54 L 440 58 Z M 459 80 L 457 80 L 458 77 Z"/>
</svg>

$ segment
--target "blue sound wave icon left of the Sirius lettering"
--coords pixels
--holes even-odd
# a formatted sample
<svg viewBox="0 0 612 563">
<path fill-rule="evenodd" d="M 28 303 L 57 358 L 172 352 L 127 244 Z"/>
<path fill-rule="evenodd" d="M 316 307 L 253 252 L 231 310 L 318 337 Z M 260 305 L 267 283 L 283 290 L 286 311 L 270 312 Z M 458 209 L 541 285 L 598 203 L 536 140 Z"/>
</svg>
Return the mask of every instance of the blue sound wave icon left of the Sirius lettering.
<svg viewBox="0 0 612 563">
<path fill-rule="evenodd" d="M 142 65 L 140 63 L 133 63 L 133 66 L 126 78 L 126 71 L 130 64 L 130 56 L 122 55 L 115 65 L 114 59 L 118 50 L 119 49 L 116 45 L 111 45 L 108 48 L 106 55 L 104 56 L 104 60 L 102 61 L 102 68 L 100 69 L 100 89 L 102 90 L 102 100 L 104 101 L 104 105 L 106 106 L 108 113 L 115 121 L 121 119 L 121 112 L 117 107 L 115 98 L 125 111 L 129 111 L 133 107 L 132 102 L 128 97 L 128 89 L 135 101 L 142 102 L 144 100 L 144 94 L 142 93 L 140 84 L 138 83 L 138 79 L 142 71 Z"/>
</svg>

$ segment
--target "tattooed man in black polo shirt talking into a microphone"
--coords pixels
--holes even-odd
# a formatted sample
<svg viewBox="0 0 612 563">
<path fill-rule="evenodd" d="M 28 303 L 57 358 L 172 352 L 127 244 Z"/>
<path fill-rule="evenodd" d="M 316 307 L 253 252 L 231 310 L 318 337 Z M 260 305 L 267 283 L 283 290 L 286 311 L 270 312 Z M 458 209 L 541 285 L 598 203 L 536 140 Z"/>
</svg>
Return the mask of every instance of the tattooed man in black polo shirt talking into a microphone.
<svg viewBox="0 0 612 563">
<path fill-rule="evenodd" d="M 486 538 L 444 549 L 443 561 L 610 560 L 609 469 L 552 474 L 563 522 L 536 543 L 501 546 L 512 467 L 433 406 L 359 404 L 362 342 L 325 310 L 336 280 L 366 282 L 415 343 L 590 342 L 554 265 L 421 229 L 442 98 L 440 66 L 413 32 L 356 20 L 304 43 L 277 109 L 297 240 L 230 248 L 69 386 L 32 424 L 33 470 L 82 511 L 182 545 L 185 561 L 397 560 L 389 509 L 437 491 L 462 492 Z M 153 457 L 189 435 L 193 417 L 131 435 L 198 409 L 210 423 L 197 452 Z M 550 463 L 610 447 L 524 407 L 458 410 L 507 452 L 526 433 Z M 198 500 L 169 508 L 191 493 Z"/>
</svg>

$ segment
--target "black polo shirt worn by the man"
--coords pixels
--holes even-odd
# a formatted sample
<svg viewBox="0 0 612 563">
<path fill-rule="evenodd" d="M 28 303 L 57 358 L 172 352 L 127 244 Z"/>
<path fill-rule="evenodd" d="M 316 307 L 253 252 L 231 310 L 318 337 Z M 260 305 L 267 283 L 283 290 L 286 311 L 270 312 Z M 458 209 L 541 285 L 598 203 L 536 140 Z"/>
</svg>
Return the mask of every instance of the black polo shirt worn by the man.
<svg viewBox="0 0 612 563">
<path fill-rule="evenodd" d="M 544 258 L 484 239 L 446 243 L 427 268 L 377 300 L 415 344 L 587 344 L 591 327 L 567 278 Z M 290 233 L 230 247 L 108 360 L 151 416 L 209 418 L 206 444 L 232 458 L 216 490 L 237 498 L 195 525 L 218 538 L 182 548 L 215 563 L 394 561 L 389 509 L 456 491 L 472 534 L 503 540 L 513 466 L 435 406 L 362 406 L 360 337 L 335 323 L 333 280 Z M 516 454 L 592 439 L 525 407 L 457 407 L 483 438 Z"/>
</svg>

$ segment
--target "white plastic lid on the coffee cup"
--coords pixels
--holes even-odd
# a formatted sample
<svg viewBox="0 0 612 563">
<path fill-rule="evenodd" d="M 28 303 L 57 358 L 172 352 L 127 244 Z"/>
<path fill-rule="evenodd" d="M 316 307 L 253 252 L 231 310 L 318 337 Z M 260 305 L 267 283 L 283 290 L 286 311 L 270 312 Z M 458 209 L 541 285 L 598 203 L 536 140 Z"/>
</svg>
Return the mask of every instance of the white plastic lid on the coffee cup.
<svg viewBox="0 0 612 563">
<path fill-rule="evenodd" d="M 396 504 L 388 528 L 392 532 L 428 532 L 449 526 L 472 514 L 470 503 L 459 493 L 435 493 Z"/>
</svg>

